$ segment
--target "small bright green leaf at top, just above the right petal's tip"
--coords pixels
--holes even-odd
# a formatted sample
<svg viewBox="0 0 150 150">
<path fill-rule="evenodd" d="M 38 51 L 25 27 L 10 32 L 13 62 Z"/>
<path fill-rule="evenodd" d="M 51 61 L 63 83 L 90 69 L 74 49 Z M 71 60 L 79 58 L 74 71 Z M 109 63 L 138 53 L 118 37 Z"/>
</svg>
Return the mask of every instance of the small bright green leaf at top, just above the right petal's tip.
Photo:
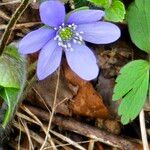
<svg viewBox="0 0 150 150">
<path fill-rule="evenodd" d="M 124 4 L 119 0 L 113 0 L 111 6 L 105 9 L 105 20 L 113 22 L 122 22 L 125 18 Z"/>
</svg>

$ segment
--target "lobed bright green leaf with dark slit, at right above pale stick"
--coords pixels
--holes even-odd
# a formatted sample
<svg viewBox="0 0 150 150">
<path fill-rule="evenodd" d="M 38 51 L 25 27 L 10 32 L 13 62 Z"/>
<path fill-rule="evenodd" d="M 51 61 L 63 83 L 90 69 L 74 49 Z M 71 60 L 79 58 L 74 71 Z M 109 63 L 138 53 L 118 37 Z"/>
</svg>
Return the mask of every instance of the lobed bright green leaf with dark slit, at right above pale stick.
<svg viewBox="0 0 150 150">
<path fill-rule="evenodd" d="M 135 60 L 124 66 L 116 79 L 113 100 L 122 99 L 118 113 L 128 124 L 140 113 L 148 93 L 149 62 Z"/>
</svg>

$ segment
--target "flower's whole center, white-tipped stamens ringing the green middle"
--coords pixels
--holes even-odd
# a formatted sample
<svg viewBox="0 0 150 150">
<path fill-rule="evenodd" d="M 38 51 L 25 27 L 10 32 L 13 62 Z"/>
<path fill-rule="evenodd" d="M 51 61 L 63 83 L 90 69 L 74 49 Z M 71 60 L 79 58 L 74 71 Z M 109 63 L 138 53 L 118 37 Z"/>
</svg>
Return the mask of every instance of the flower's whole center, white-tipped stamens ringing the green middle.
<svg viewBox="0 0 150 150">
<path fill-rule="evenodd" d="M 57 35 L 54 40 L 58 41 L 58 45 L 66 51 L 73 51 L 72 43 L 82 44 L 83 32 L 76 31 L 77 25 L 66 25 L 63 23 L 59 28 L 54 28 L 57 31 Z"/>
</svg>

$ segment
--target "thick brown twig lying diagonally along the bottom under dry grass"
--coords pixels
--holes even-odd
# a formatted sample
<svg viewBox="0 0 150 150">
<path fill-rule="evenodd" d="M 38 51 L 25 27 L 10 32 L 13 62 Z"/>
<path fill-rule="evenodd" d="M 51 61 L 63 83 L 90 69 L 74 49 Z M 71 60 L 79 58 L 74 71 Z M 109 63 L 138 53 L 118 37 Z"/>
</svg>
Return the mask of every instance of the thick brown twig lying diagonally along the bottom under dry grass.
<svg viewBox="0 0 150 150">
<path fill-rule="evenodd" d="M 38 118 L 43 120 L 49 120 L 49 113 L 32 107 L 32 106 L 26 106 L 33 114 L 35 114 Z M 121 136 L 116 136 L 111 133 L 107 133 L 105 131 L 102 131 L 96 127 L 78 122 L 72 118 L 67 117 L 60 117 L 60 116 L 54 116 L 52 122 L 64 129 L 67 129 L 69 131 L 78 133 L 80 135 L 89 137 L 90 139 L 94 139 L 97 141 L 100 141 L 102 143 L 105 143 L 107 145 L 111 145 L 113 147 L 117 147 L 124 150 L 129 149 L 140 149 L 141 144 L 138 142 L 131 142 L 129 139 L 122 138 Z"/>
</svg>

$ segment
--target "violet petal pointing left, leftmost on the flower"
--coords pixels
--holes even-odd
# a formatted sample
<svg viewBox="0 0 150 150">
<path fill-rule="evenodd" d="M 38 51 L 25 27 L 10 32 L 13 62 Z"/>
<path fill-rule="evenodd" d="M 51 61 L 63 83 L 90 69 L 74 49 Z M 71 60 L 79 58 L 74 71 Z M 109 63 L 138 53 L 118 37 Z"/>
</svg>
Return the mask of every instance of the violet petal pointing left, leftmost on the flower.
<svg viewBox="0 0 150 150">
<path fill-rule="evenodd" d="M 28 33 L 19 43 L 21 54 L 30 54 L 40 50 L 51 38 L 55 36 L 52 29 L 42 27 Z"/>
</svg>

